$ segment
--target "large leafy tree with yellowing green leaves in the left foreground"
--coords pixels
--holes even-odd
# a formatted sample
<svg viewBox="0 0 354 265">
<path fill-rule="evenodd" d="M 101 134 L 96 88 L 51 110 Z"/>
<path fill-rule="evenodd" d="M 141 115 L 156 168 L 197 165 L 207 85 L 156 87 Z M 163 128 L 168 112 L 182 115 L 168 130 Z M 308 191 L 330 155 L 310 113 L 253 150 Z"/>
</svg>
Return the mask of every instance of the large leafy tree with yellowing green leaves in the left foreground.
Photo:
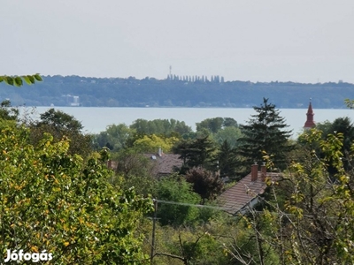
<svg viewBox="0 0 354 265">
<path fill-rule="evenodd" d="M 53 264 L 140 264 L 135 235 L 151 200 L 113 188 L 101 160 L 69 155 L 69 141 L 45 134 L 37 147 L 27 129 L 0 136 L 0 260 L 6 249 L 46 250 Z"/>
</svg>

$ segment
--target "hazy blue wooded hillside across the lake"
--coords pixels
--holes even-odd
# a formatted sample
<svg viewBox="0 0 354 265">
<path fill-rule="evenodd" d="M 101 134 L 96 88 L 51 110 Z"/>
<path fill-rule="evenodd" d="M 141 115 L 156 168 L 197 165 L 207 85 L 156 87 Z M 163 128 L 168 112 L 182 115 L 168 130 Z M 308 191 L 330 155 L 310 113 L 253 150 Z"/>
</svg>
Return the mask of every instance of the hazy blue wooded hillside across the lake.
<svg viewBox="0 0 354 265">
<path fill-rule="evenodd" d="M 345 108 L 343 100 L 354 99 L 354 85 L 349 83 L 224 82 L 219 77 L 159 80 L 57 75 L 43 79 L 20 88 L 0 83 L 0 99 L 27 106 L 247 108 L 268 97 L 277 108 L 306 108 L 312 98 L 316 109 Z"/>
</svg>

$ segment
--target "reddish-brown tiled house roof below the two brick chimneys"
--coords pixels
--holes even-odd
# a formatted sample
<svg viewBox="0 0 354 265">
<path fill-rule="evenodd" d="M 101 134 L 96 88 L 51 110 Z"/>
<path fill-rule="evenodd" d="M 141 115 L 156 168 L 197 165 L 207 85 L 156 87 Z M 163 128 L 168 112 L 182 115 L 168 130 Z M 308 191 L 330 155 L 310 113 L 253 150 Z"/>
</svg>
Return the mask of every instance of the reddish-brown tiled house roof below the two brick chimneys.
<svg viewBox="0 0 354 265">
<path fill-rule="evenodd" d="M 251 181 L 251 173 L 242 178 L 235 186 L 230 187 L 219 195 L 219 201 L 227 212 L 235 214 L 246 208 L 266 190 L 266 183 L 261 179 L 262 172 L 258 171 L 258 178 Z M 279 178 L 279 173 L 267 172 L 267 178 Z"/>
</svg>

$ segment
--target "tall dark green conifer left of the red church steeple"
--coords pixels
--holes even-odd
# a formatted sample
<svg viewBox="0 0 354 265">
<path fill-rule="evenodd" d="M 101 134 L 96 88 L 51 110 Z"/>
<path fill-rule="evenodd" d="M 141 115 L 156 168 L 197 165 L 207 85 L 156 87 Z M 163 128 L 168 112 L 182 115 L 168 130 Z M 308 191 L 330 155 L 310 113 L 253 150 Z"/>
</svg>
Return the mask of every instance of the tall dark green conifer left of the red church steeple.
<svg viewBox="0 0 354 265">
<path fill-rule="evenodd" d="M 291 131 L 287 131 L 289 125 L 285 124 L 284 117 L 280 116 L 280 110 L 275 105 L 263 98 L 260 107 L 253 107 L 257 114 L 251 115 L 246 125 L 241 126 L 244 135 L 240 141 L 239 155 L 243 157 L 243 165 L 249 169 L 250 164 L 257 161 L 261 163 L 263 156 L 272 155 L 276 167 L 286 167 L 286 158 L 294 148 L 289 144 Z"/>
</svg>

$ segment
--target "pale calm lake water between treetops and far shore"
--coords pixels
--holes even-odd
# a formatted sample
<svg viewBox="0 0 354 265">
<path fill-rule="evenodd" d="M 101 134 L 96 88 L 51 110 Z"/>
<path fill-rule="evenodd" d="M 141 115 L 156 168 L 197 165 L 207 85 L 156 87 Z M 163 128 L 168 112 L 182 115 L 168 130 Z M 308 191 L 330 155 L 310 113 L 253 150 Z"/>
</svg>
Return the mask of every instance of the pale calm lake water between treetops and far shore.
<svg viewBox="0 0 354 265">
<path fill-rule="evenodd" d="M 51 107 L 37 107 L 34 117 L 49 110 Z M 224 109 L 224 108 L 92 108 L 92 107 L 55 107 L 67 114 L 73 115 L 81 121 L 86 133 L 100 133 L 107 125 L 131 125 L 136 119 L 147 120 L 174 118 L 184 121 L 196 129 L 196 123 L 208 117 L 233 117 L 239 124 L 244 124 L 250 115 L 256 114 L 253 109 Z M 30 110 L 28 107 L 27 110 Z M 306 121 L 307 109 L 280 109 L 281 117 L 285 117 L 293 136 L 303 130 Z M 337 117 L 350 117 L 353 119 L 354 110 L 316 110 L 313 109 L 315 122 L 333 121 Z"/>
</svg>

